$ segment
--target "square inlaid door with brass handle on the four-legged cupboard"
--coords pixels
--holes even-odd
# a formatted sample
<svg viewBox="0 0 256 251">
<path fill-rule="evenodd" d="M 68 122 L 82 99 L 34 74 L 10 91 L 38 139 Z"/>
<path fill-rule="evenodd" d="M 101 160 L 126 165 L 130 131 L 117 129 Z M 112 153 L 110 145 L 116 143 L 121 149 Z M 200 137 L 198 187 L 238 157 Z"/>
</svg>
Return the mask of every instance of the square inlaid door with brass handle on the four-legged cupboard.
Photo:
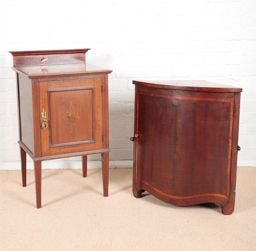
<svg viewBox="0 0 256 251">
<path fill-rule="evenodd" d="M 101 78 L 41 82 L 40 108 L 42 156 L 102 148 Z"/>
</svg>

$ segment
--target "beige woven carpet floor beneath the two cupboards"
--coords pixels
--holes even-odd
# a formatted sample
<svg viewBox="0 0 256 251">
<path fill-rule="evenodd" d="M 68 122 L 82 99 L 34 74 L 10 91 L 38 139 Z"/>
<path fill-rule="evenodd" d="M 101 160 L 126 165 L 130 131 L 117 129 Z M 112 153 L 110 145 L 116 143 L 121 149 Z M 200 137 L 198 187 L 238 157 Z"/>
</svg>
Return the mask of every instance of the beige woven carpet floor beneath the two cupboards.
<svg viewBox="0 0 256 251">
<path fill-rule="evenodd" d="M 256 250 L 256 168 L 240 167 L 236 208 L 169 205 L 133 197 L 131 168 L 111 169 L 109 197 L 101 169 L 42 170 L 42 208 L 35 208 L 34 173 L 0 171 L 1 251 Z"/>
</svg>

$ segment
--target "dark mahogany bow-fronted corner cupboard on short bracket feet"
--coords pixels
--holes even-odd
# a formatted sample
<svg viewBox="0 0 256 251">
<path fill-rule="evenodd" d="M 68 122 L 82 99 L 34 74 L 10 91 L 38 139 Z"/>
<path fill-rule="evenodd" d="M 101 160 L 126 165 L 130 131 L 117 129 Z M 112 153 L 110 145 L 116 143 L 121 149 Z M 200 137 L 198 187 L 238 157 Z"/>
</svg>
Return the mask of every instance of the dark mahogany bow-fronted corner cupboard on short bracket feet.
<svg viewBox="0 0 256 251">
<path fill-rule="evenodd" d="M 135 84 L 133 194 L 174 205 L 235 206 L 241 88 L 207 81 Z"/>
</svg>

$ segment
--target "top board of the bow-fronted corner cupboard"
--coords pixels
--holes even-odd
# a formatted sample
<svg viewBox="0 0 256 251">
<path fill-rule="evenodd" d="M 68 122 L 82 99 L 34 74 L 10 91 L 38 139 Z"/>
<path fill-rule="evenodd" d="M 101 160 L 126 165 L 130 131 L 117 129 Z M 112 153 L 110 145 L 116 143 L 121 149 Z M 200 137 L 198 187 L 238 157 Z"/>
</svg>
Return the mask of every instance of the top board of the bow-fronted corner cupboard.
<svg viewBox="0 0 256 251">
<path fill-rule="evenodd" d="M 242 88 L 204 80 L 133 80 L 133 84 L 152 88 L 182 91 L 241 92 Z"/>
</svg>

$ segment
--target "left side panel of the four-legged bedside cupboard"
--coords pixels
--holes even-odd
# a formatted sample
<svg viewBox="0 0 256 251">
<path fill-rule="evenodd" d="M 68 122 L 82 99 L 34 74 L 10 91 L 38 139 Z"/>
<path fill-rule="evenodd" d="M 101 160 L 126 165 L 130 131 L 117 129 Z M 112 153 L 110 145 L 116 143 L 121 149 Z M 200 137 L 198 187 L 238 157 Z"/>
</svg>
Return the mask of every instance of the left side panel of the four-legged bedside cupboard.
<svg viewBox="0 0 256 251">
<path fill-rule="evenodd" d="M 33 125 L 33 104 L 32 104 L 32 83 L 23 74 L 19 77 L 20 94 L 20 132 L 21 141 L 35 154 L 34 149 L 34 125 Z"/>
</svg>

